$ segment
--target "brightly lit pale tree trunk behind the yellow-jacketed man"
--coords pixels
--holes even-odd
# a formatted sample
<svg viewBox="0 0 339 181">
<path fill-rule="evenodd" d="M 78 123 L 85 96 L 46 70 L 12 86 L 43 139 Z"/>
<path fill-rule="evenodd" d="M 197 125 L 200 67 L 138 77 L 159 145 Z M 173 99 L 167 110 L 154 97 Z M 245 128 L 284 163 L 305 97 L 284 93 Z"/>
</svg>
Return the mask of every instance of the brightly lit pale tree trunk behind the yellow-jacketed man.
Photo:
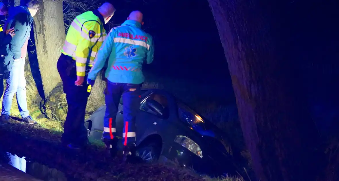
<svg viewBox="0 0 339 181">
<path fill-rule="evenodd" d="M 42 0 L 34 17 L 34 38 L 45 97 L 61 81 L 57 60 L 65 40 L 62 0 Z"/>
</svg>

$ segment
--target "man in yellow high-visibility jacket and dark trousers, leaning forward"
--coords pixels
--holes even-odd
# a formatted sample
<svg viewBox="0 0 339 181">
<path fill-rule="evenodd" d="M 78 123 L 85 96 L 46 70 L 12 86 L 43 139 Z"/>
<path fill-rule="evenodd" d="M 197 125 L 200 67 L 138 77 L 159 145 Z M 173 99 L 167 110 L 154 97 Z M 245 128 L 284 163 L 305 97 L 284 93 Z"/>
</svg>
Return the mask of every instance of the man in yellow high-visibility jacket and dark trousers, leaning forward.
<svg viewBox="0 0 339 181">
<path fill-rule="evenodd" d="M 106 38 L 103 25 L 115 11 L 112 3 L 105 2 L 97 10 L 77 16 L 68 29 L 57 68 L 68 104 L 61 141 L 69 148 L 80 149 L 88 142 L 84 127 L 89 96 L 86 77 Z"/>
</svg>

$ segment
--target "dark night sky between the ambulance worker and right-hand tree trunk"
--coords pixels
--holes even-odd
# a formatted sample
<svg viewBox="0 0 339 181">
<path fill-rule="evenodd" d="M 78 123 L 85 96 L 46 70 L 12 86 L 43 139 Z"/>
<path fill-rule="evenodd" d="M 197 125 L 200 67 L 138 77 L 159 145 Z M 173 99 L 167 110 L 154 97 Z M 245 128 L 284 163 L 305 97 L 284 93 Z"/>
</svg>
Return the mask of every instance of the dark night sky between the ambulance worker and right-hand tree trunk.
<svg viewBox="0 0 339 181">
<path fill-rule="evenodd" d="M 181 81 L 193 91 L 200 91 L 196 87 L 217 88 L 224 92 L 220 97 L 233 96 L 224 50 L 207 0 L 119 3 L 115 3 L 117 12 L 111 21 L 120 24 L 131 11 L 140 10 L 143 28 L 155 40 L 154 62 L 144 66 L 147 80 Z M 211 95 L 206 91 L 202 94 Z"/>
</svg>

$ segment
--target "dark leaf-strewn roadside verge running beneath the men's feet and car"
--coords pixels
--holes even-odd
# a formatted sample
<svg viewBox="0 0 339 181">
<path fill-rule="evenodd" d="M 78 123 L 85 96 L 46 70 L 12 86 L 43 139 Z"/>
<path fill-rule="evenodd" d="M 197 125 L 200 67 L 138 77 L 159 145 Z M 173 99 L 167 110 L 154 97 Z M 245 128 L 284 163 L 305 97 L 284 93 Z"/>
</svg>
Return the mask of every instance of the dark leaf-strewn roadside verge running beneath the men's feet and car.
<svg viewBox="0 0 339 181">
<path fill-rule="evenodd" d="M 121 164 L 121 158 L 107 159 L 104 148 L 93 145 L 86 152 L 62 149 L 61 132 L 53 132 L 40 125 L 27 125 L 20 121 L 11 121 L 0 127 L 0 142 L 6 152 L 25 156 L 28 161 L 35 161 L 56 168 L 66 177 L 76 180 L 185 180 L 185 181 L 242 181 L 240 178 L 212 179 L 202 177 L 191 169 L 176 164 Z"/>
</svg>

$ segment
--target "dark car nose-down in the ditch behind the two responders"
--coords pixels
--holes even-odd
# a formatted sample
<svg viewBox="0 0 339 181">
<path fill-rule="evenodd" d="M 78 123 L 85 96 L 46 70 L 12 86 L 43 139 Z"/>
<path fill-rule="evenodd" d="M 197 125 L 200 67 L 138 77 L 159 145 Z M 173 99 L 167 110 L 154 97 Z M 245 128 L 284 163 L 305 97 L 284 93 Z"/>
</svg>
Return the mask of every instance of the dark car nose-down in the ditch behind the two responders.
<svg viewBox="0 0 339 181">
<path fill-rule="evenodd" d="M 218 127 L 164 90 L 143 89 L 141 98 L 136 118 L 138 156 L 146 162 L 176 160 L 182 166 L 192 166 L 195 171 L 207 175 L 239 174 L 226 136 Z M 102 139 L 105 109 L 105 105 L 101 106 L 85 121 L 92 140 Z M 122 115 L 121 98 L 116 118 L 120 132 Z"/>
</svg>

